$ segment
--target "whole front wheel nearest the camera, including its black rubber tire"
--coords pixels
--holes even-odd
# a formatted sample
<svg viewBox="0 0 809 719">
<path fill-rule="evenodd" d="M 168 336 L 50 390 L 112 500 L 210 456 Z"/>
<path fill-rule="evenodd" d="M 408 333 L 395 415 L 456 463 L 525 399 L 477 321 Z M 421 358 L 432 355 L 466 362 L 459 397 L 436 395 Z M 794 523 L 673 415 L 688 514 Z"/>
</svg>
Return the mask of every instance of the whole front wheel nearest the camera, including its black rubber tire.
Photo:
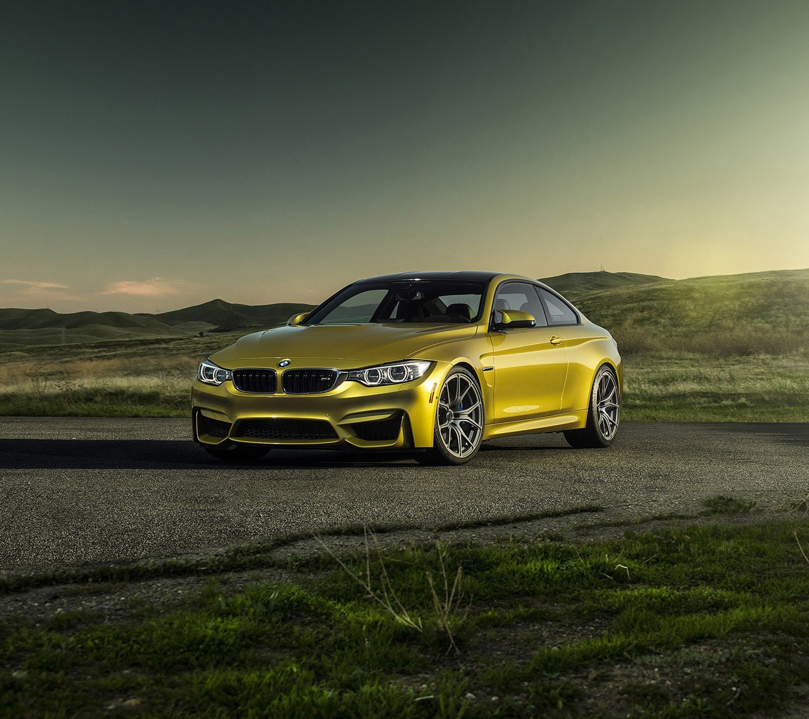
<svg viewBox="0 0 809 719">
<path fill-rule="evenodd" d="M 484 424 L 483 395 L 477 377 L 464 367 L 454 367 L 438 392 L 433 446 L 416 455 L 417 462 L 467 463 L 481 448 Z"/>
</svg>

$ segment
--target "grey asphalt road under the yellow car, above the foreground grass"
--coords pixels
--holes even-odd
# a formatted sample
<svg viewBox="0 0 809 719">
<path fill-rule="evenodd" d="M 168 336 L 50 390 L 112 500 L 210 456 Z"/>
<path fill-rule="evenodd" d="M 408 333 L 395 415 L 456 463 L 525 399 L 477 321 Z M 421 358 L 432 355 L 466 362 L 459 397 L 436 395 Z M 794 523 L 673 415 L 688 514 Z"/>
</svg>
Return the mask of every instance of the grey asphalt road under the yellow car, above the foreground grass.
<svg viewBox="0 0 809 719">
<path fill-rule="evenodd" d="M 203 552 L 367 523 L 434 527 L 580 505 L 694 511 L 718 494 L 809 493 L 809 424 L 625 423 L 607 450 L 487 443 L 463 467 L 273 450 L 218 463 L 173 419 L 0 418 L 0 569 Z"/>
</svg>

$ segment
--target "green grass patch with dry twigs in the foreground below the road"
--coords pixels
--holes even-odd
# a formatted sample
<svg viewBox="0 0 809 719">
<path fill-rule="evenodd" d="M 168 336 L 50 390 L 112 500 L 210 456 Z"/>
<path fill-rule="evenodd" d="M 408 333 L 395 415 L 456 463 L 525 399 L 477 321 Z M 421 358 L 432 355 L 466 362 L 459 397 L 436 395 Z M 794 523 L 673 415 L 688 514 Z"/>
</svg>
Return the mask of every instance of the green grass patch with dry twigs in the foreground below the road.
<svg viewBox="0 0 809 719">
<path fill-rule="evenodd" d="M 760 716 L 809 681 L 796 533 L 806 545 L 809 522 L 345 558 L 375 591 L 384 567 L 421 632 L 328 556 L 299 560 L 294 582 L 231 590 L 223 575 L 170 608 L 132 602 L 113 624 L 86 611 L 12 617 L 0 624 L 0 714 Z M 426 581 L 440 586 L 442 566 L 462 571 L 459 654 Z"/>
</svg>

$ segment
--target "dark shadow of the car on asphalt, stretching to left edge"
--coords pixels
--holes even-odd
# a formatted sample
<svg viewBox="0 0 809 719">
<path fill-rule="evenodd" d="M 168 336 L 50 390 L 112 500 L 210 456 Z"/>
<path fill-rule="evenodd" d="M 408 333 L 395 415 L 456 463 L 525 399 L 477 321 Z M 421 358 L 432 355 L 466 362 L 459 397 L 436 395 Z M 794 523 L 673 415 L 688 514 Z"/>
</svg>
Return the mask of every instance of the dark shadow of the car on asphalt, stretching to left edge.
<svg viewBox="0 0 809 719">
<path fill-rule="evenodd" d="M 563 450 L 558 446 L 485 444 L 481 453 L 520 450 Z M 226 463 L 214 459 L 188 440 L 157 439 L 0 439 L 0 468 L 5 469 L 166 469 L 170 467 L 232 467 L 268 471 L 283 467 L 391 467 L 422 465 L 413 453 L 400 451 L 278 450 L 261 459 Z M 430 467 L 425 467 L 430 469 Z"/>
</svg>

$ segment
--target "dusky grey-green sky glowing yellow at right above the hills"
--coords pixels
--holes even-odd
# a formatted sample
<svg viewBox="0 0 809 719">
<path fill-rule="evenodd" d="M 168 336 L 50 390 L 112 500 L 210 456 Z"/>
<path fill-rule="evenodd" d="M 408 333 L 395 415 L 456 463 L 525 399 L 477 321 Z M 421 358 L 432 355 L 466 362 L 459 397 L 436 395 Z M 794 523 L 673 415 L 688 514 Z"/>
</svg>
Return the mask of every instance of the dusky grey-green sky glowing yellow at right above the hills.
<svg viewBox="0 0 809 719">
<path fill-rule="evenodd" d="M 809 2 L 6 2 L 0 307 L 809 267 Z"/>
</svg>

